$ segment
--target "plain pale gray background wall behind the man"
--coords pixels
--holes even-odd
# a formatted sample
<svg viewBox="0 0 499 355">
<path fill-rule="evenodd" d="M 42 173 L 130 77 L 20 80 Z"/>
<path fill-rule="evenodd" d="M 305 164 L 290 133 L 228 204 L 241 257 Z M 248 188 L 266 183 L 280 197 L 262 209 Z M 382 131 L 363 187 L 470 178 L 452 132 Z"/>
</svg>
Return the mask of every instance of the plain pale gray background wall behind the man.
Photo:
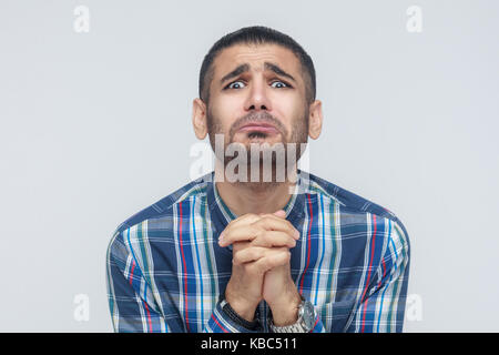
<svg viewBox="0 0 499 355">
<path fill-rule="evenodd" d="M 310 172 L 409 232 L 421 318 L 404 329 L 498 332 L 498 20 L 497 1 L 1 0 L 0 331 L 112 331 L 111 234 L 191 180 L 202 59 L 264 24 L 315 62 Z"/>
</svg>

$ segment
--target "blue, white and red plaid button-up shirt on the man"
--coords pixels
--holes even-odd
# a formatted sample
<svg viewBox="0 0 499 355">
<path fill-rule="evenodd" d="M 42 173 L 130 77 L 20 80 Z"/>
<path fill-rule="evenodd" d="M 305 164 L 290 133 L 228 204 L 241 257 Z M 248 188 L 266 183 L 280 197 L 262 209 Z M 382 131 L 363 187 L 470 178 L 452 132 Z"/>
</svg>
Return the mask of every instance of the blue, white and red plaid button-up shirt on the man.
<svg viewBox="0 0 499 355">
<path fill-rule="evenodd" d="M 136 213 L 115 230 L 106 254 L 115 332 L 253 332 L 222 308 L 232 248 L 220 233 L 235 215 L 211 172 Z M 291 250 L 296 287 L 315 306 L 312 332 L 401 332 L 409 239 L 388 210 L 298 170 L 284 207 L 302 237 Z M 261 328 L 269 307 L 256 310 Z"/>
</svg>

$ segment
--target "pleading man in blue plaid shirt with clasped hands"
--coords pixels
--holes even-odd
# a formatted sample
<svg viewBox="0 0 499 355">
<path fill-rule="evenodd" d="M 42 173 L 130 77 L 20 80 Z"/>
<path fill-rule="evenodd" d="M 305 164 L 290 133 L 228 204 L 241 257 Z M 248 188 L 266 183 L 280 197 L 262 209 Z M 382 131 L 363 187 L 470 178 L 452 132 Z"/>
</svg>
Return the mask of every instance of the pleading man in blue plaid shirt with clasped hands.
<svg viewBox="0 0 499 355">
<path fill-rule="evenodd" d="M 195 134 L 210 136 L 217 168 L 116 229 L 106 263 L 114 331 L 401 332 L 407 231 L 297 169 L 322 123 L 298 43 L 264 27 L 218 40 L 193 102 Z"/>
</svg>

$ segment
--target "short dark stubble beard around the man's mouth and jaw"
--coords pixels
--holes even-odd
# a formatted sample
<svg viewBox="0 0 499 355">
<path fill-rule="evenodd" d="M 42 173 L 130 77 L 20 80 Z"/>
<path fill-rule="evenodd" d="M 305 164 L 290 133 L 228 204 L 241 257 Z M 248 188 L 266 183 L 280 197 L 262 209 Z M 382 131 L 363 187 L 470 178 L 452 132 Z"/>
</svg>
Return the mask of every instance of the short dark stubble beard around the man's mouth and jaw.
<svg viewBox="0 0 499 355">
<path fill-rule="evenodd" d="M 254 192 L 266 191 L 285 181 L 294 179 L 299 158 L 308 142 L 308 106 L 305 105 L 303 115 L 298 115 L 292 122 L 291 134 L 277 119 L 267 111 L 252 111 L 237 119 L 228 130 L 228 141 L 221 121 L 214 116 L 208 105 L 206 112 L 210 144 L 215 152 L 218 163 L 223 163 L 224 179 L 227 168 L 233 168 L 237 179 L 228 179 L 241 187 L 251 189 Z M 248 122 L 262 122 L 273 124 L 279 134 L 262 131 L 238 131 Z M 218 145 L 216 136 L 223 136 L 223 150 Z M 234 156 L 226 154 L 233 151 Z M 228 150 L 227 150 L 228 148 Z M 240 156 L 244 154 L 246 156 Z M 231 166 L 232 165 L 232 166 Z"/>
</svg>

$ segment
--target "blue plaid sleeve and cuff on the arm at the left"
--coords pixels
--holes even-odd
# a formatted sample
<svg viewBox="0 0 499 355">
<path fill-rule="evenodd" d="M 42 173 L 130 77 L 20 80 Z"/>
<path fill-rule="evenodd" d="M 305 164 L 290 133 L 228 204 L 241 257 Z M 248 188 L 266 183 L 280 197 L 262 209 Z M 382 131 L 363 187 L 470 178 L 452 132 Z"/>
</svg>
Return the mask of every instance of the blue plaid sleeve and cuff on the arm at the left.
<svg viewBox="0 0 499 355">
<path fill-rule="evenodd" d="M 115 232 L 106 253 L 108 301 L 115 333 L 184 333 L 173 304 L 160 307 L 139 262 Z M 165 315 L 164 310 L 173 310 Z M 256 333 L 236 324 L 217 302 L 203 333 Z"/>
</svg>

